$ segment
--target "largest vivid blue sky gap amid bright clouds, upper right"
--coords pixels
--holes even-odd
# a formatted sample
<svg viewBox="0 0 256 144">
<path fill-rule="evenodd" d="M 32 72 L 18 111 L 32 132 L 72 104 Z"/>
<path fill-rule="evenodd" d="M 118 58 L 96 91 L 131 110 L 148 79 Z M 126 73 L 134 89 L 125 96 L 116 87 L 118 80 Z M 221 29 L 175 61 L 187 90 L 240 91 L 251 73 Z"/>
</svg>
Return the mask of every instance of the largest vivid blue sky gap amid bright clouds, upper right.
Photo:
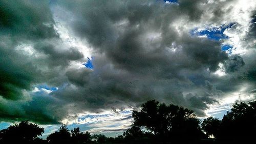
<svg viewBox="0 0 256 144">
<path fill-rule="evenodd" d="M 197 35 L 197 36 L 206 36 L 208 39 L 219 41 L 221 39 L 228 39 L 229 37 L 224 34 L 224 31 L 227 28 L 231 28 L 234 24 L 234 22 L 229 24 L 223 24 L 218 27 L 207 27 L 204 29 L 195 28 L 191 35 Z"/>
</svg>

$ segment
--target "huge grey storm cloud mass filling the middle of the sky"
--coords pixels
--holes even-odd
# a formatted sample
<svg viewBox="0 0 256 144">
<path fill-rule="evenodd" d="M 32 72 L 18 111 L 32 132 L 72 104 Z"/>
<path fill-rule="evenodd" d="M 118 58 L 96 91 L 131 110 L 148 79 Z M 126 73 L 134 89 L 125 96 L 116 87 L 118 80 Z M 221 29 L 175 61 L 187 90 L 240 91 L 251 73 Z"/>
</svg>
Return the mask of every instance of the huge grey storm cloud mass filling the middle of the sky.
<svg viewBox="0 0 256 144">
<path fill-rule="evenodd" d="M 170 24 L 179 17 L 172 13 L 182 12 L 181 16 L 186 17 L 188 12 L 183 12 L 178 5 L 136 1 L 81 3 L 73 7 L 66 4 L 67 10 L 78 15 L 70 26 L 100 53 L 94 55 L 93 72 L 67 71 L 68 79 L 76 88 L 70 85 L 66 90 L 52 93 L 73 101 L 79 110 L 120 108 L 124 103 L 134 106 L 150 99 L 188 106 L 191 100 L 183 96 L 183 92 L 200 85 L 190 83 L 187 74 L 200 75 L 205 69 L 214 72 L 220 62 L 228 59 L 221 51 L 220 42 L 192 38 L 183 32 L 179 36 Z M 110 5 L 116 7 L 110 9 Z M 191 19 L 195 17 L 191 15 Z M 154 38 L 157 36 L 159 38 Z M 174 52 L 172 47 L 177 50 Z M 195 96 L 199 97 L 198 104 L 203 104 L 199 109 L 207 108 L 205 103 L 216 102 L 213 98 L 201 98 L 204 93 L 199 95 Z M 184 100 L 187 105 L 182 103 Z"/>
</svg>

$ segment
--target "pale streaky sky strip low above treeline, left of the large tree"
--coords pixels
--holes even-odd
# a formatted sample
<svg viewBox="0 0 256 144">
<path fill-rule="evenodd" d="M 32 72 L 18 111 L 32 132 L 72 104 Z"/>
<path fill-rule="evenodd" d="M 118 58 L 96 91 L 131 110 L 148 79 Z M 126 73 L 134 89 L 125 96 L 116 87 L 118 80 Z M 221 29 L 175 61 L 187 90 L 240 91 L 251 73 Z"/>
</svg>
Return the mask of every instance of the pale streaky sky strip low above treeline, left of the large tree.
<svg viewBox="0 0 256 144">
<path fill-rule="evenodd" d="M 132 119 L 132 110 L 125 109 L 118 111 L 119 114 L 112 111 L 112 113 L 88 113 L 83 116 L 79 116 L 76 122 L 67 125 L 69 130 L 76 127 L 80 128 L 81 132 L 90 131 L 92 134 L 105 134 L 106 136 L 115 137 L 121 135 L 126 128 L 126 125 L 131 124 L 130 119 Z M 119 116 L 116 118 L 116 116 Z M 41 138 L 46 139 L 46 137 L 57 130 L 60 125 L 54 125 L 45 127 L 46 133 L 44 133 Z M 54 129 L 54 130 L 52 130 Z"/>
</svg>

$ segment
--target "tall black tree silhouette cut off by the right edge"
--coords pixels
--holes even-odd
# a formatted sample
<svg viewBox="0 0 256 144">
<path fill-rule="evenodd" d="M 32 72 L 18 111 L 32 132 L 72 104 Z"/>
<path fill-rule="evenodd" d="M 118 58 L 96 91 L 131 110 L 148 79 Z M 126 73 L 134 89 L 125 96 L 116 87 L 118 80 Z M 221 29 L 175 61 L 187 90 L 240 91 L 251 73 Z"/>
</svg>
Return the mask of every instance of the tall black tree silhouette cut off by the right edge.
<svg viewBox="0 0 256 144">
<path fill-rule="evenodd" d="M 256 142 L 256 101 L 235 103 L 224 115 L 219 140 L 231 142 Z"/>
</svg>

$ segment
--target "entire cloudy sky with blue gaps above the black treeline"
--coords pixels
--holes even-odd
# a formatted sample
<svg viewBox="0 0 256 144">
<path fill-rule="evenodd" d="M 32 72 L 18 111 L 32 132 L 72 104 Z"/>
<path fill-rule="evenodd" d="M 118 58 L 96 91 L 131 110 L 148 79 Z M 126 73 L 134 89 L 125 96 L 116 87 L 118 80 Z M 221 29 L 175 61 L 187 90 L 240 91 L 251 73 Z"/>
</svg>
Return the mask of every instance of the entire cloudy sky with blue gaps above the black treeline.
<svg viewBox="0 0 256 144">
<path fill-rule="evenodd" d="M 222 119 L 256 100 L 256 2 L 0 1 L 0 129 L 116 136 L 155 99 Z"/>
</svg>

